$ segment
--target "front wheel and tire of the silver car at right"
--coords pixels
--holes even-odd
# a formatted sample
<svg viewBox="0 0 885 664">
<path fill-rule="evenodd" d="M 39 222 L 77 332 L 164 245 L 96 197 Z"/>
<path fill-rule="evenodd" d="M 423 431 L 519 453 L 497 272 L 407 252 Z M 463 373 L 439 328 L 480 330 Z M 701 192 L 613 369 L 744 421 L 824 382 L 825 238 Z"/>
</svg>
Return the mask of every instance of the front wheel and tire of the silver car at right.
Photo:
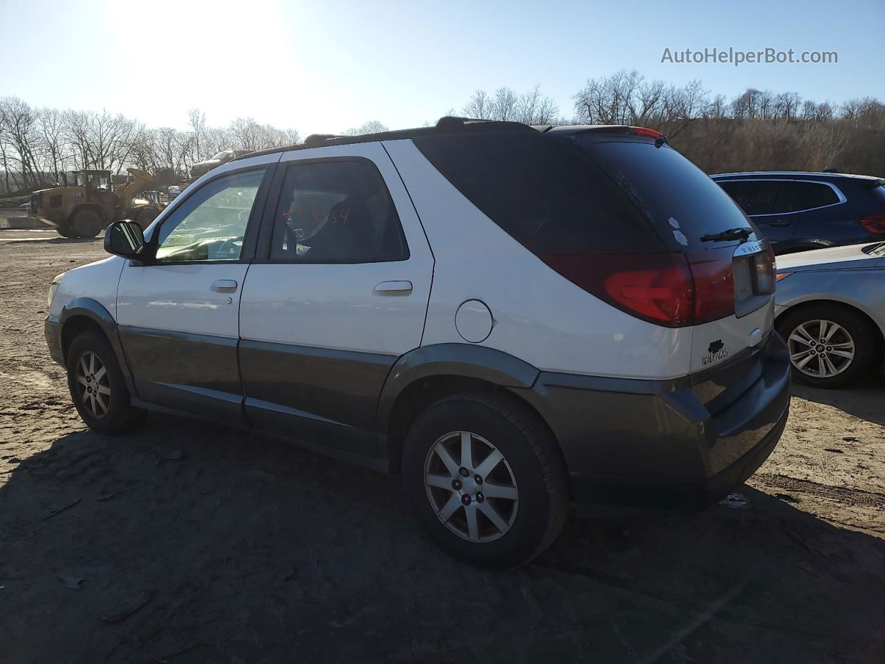
<svg viewBox="0 0 885 664">
<path fill-rule="evenodd" d="M 812 387 L 831 390 L 857 381 L 876 366 L 881 351 L 863 316 L 840 305 L 799 306 L 784 314 L 777 328 L 787 341 L 793 378 Z M 825 344 L 821 330 L 829 336 Z"/>
</svg>

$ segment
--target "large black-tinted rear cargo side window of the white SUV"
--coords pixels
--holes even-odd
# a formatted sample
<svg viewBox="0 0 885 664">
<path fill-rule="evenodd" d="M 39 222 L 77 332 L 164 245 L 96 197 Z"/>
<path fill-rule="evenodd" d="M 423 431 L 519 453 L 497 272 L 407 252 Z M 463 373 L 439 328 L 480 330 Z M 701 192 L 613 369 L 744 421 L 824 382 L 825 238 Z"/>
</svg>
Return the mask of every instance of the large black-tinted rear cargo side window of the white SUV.
<svg viewBox="0 0 885 664">
<path fill-rule="evenodd" d="M 535 254 L 666 251 L 625 193 L 565 138 L 527 132 L 413 140 L 473 205 Z"/>
</svg>

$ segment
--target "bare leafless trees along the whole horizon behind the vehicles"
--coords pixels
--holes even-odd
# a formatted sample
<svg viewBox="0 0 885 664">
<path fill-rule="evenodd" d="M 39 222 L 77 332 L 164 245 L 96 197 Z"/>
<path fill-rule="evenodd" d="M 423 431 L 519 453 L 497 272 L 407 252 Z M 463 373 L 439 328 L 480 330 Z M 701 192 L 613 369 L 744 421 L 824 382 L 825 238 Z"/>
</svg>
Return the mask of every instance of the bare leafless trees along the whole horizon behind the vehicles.
<svg viewBox="0 0 885 664">
<path fill-rule="evenodd" d="M 885 105 L 873 97 L 834 104 L 750 88 L 728 99 L 713 95 L 701 81 L 675 86 L 620 71 L 589 79 L 573 96 L 571 117 L 539 86 L 522 93 L 480 89 L 447 114 L 531 125 L 651 127 L 707 173 L 836 168 L 885 174 Z M 150 128 L 119 113 L 35 108 L 18 97 L 0 97 L 0 191 L 65 183 L 70 171 L 90 168 L 119 173 L 135 166 L 187 176 L 190 166 L 219 151 L 264 150 L 301 140 L 296 129 L 252 118 L 212 127 L 199 109 L 189 111 L 186 126 Z M 372 120 L 341 133 L 387 128 Z"/>
</svg>

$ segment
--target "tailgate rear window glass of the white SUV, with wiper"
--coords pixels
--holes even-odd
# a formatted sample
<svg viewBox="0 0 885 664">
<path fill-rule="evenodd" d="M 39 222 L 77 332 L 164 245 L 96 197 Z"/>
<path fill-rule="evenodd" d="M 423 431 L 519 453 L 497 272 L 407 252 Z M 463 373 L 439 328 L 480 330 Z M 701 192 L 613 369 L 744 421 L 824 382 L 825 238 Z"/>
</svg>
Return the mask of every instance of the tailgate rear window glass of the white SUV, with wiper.
<svg viewBox="0 0 885 664">
<path fill-rule="evenodd" d="M 573 141 L 618 182 L 673 249 L 721 246 L 701 238 L 729 228 L 752 228 L 741 208 L 707 174 L 666 144 L 603 141 L 593 133 L 575 135 Z"/>
</svg>

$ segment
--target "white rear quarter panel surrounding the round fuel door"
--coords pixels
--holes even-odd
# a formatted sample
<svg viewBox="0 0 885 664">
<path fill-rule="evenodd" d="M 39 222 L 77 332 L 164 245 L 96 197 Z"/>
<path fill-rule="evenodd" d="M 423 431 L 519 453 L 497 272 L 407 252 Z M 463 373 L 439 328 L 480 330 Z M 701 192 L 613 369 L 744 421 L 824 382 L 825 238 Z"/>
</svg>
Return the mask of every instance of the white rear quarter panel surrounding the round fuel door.
<svg viewBox="0 0 885 664">
<path fill-rule="evenodd" d="M 385 143 L 435 257 L 422 345 L 464 343 L 466 300 L 485 303 L 493 327 L 477 345 L 573 374 L 673 378 L 689 373 L 692 329 L 639 320 L 581 290 L 489 220 L 412 141 Z"/>
</svg>

